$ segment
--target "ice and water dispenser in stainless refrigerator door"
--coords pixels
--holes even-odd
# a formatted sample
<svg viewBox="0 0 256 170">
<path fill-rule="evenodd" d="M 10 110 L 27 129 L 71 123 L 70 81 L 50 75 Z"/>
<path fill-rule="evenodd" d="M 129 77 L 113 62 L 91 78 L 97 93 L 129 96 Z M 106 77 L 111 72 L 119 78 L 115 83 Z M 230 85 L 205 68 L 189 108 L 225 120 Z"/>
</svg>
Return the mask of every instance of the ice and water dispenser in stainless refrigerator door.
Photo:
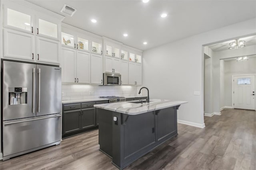
<svg viewBox="0 0 256 170">
<path fill-rule="evenodd" d="M 28 88 L 9 88 L 9 105 L 20 105 L 28 103 Z"/>
</svg>

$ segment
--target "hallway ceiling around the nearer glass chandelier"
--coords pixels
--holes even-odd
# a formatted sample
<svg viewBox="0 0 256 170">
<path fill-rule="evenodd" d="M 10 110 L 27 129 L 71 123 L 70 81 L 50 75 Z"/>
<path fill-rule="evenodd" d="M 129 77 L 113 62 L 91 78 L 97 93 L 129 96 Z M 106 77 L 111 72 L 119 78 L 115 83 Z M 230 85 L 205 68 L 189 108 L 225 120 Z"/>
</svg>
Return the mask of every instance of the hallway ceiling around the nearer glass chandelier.
<svg viewBox="0 0 256 170">
<path fill-rule="evenodd" d="M 243 37 L 243 38 L 240 38 L 239 40 L 245 41 L 245 46 L 246 47 L 250 46 L 250 45 L 256 45 L 256 35 L 250 36 L 250 37 Z M 228 44 L 233 42 L 233 41 L 234 40 L 225 41 L 225 42 L 222 42 L 222 43 L 209 45 L 208 47 L 210 49 L 212 49 L 212 51 L 223 51 L 223 50 L 227 50 L 228 49 Z"/>
</svg>

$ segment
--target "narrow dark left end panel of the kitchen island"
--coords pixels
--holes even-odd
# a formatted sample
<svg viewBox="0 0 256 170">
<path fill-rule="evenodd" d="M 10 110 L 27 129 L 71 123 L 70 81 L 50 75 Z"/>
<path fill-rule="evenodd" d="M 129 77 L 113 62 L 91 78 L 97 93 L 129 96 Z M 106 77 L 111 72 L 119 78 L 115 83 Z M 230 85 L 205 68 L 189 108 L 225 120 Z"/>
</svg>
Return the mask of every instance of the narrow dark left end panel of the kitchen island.
<svg viewBox="0 0 256 170">
<path fill-rule="evenodd" d="M 112 111 L 100 109 L 98 110 L 99 122 L 99 145 L 100 150 L 112 157 Z"/>
</svg>

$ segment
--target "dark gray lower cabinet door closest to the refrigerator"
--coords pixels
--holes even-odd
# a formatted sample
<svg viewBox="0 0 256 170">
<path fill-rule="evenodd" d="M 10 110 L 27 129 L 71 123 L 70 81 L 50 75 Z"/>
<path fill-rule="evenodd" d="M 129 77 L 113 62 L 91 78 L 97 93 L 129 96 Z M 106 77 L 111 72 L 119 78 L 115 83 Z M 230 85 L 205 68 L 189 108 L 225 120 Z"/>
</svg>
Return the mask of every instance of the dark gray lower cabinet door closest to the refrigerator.
<svg viewBox="0 0 256 170">
<path fill-rule="evenodd" d="M 80 110 L 63 112 L 63 135 L 80 130 Z"/>
</svg>

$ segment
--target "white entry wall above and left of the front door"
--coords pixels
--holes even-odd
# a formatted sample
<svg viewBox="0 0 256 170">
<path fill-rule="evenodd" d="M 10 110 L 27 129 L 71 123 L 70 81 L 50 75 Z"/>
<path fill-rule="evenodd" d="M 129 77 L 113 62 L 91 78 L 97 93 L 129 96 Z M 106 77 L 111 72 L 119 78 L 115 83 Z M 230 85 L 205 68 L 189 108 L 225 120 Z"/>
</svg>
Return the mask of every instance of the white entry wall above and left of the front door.
<svg viewBox="0 0 256 170">
<path fill-rule="evenodd" d="M 232 75 L 256 74 L 256 57 L 249 58 L 248 61 L 237 62 L 236 59 L 224 62 L 224 106 L 232 105 Z"/>
</svg>

